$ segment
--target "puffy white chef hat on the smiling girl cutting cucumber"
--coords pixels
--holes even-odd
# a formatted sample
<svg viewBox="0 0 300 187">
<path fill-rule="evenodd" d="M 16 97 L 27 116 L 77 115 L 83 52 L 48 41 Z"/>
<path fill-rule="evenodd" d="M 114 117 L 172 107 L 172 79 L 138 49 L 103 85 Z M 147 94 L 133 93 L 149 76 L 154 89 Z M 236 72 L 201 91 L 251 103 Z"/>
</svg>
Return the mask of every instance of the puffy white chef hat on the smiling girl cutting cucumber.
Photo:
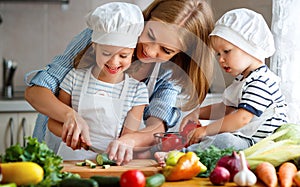
<svg viewBox="0 0 300 187">
<path fill-rule="evenodd" d="M 86 16 L 98 44 L 135 48 L 144 28 L 141 9 L 134 4 L 111 2 L 97 7 Z"/>
</svg>

